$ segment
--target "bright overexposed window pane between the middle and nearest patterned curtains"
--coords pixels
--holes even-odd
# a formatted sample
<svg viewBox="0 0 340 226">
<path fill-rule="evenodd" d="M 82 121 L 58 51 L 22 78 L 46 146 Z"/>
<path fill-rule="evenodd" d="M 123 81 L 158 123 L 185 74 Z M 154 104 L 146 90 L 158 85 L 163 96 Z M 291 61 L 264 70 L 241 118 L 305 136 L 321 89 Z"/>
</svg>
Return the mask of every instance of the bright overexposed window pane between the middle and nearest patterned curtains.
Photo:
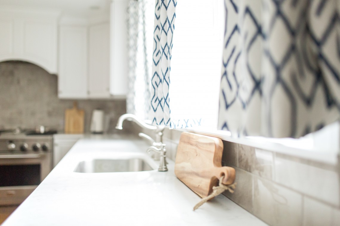
<svg viewBox="0 0 340 226">
<path fill-rule="evenodd" d="M 170 65 L 172 121 L 202 118 L 202 126 L 217 128 L 223 29 L 222 0 L 178 2 Z"/>
</svg>

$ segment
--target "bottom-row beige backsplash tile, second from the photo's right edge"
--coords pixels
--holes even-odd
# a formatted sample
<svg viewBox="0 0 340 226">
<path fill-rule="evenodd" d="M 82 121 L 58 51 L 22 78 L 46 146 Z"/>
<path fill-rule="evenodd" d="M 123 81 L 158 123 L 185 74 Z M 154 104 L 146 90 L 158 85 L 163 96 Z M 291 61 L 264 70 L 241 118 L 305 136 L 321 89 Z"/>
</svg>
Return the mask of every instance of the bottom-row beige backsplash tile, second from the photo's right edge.
<svg viewBox="0 0 340 226">
<path fill-rule="evenodd" d="M 253 214 L 269 225 L 300 226 L 302 195 L 271 180 L 253 177 Z"/>
</svg>

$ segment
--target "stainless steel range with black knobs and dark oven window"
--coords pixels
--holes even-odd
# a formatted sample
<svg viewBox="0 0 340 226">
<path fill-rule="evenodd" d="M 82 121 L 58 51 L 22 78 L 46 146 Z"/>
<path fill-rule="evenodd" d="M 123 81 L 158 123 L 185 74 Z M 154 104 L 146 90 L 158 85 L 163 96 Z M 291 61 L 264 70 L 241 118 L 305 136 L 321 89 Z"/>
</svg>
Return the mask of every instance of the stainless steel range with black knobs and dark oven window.
<svg viewBox="0 0 340 226">
<path fill-rule="evenodd" d="M 27 135 L 30 134 L 30 135 Z M 53 137 L 32 131 L 0 135 L 0 206 L 19 205 L 52 170 Z"/>
</svg>

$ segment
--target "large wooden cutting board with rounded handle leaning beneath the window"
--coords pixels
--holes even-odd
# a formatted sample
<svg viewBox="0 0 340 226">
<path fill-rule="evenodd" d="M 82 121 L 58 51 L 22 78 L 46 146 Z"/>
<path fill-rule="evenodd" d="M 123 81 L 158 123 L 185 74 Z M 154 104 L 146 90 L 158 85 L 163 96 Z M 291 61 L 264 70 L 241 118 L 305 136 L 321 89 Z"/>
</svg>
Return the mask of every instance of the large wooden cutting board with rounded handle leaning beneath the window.
<svg viewBox="0 0 340 226">
<path fill-rule="evenodd" d="M 202 198 L 218 186 L 219 178 L 225 185 L 234 183 L 235 169 L 222 167 L 223 143 L 215 137 L 183 132 L 177 148 L 175 174 Z"/>
</svg>

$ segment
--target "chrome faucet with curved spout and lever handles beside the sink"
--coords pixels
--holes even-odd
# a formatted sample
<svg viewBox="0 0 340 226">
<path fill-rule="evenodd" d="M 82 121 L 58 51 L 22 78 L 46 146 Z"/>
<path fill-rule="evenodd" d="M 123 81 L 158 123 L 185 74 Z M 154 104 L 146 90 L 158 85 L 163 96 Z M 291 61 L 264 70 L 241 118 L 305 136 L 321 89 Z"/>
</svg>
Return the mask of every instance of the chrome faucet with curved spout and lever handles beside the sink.
<svg viewBox="0 0 340 226">
<path fill-rule="evenodd" d="M 153 140 L 151 137 L 149 137 L 145 133 L 140 132 L 138 135 L 139 137 L 146 138 L 147 140 L 151 142 L 152 146 L 150 146 L 147 149 L 148 153 L 150 153 L 150 151 L 155 151 L 156 153 L 159 153 L 160 163 L 159 163 L 158 171 L 168 171 L 167 162 L 166 162 L 166 149 L 165 149 L 166 145 L 163 144 L 163 131 L 164 131 L 165 126 L 149 125 L 149 124 L 146 124 L 141 119 L 137 118 L 133 114 L 124 114 L 119 117 L 117 125 L 116 125 L 116 129 L 123 129 L 124 120 L 133 121 L 137 123 L 140 127 L 145 128 L 145 129 L 151 129 L 155 132 L 155 140 Z M 154 159 L 158 160 L 157 155 L 154 155 Z"/>
</svg>

